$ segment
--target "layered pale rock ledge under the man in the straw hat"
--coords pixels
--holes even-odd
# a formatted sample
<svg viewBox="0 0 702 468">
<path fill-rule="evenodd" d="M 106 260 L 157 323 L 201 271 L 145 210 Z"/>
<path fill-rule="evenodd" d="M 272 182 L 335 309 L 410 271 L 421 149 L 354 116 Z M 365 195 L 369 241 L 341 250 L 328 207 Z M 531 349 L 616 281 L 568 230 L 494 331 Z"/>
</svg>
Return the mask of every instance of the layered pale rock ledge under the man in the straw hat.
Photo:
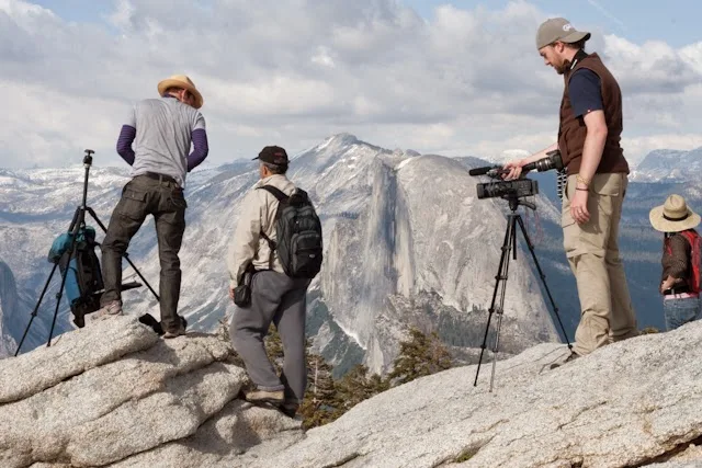
<svg viewBox="0 0 702 468">
<path fill-rule="evenodd" d="M 195 460 L 296 431 L 278 411 L 237 400 L 247 377 L 231 357 L 214 335 L 166 341 L 121 317 L 3 359 L 0 421 L 12 424 L 0 429 L 0 466 L 184 466 L 183 450 L 203 466 Z"/>
</svg>

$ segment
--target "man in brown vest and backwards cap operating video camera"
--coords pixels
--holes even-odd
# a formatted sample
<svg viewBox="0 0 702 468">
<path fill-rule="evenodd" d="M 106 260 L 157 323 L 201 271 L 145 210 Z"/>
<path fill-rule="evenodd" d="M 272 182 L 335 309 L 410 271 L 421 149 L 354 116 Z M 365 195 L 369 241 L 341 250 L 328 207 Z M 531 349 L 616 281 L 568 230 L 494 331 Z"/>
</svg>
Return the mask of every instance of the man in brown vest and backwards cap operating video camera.
<svg viewBox="0 0 702 468">
<path fill-rule="evenodd" d="M 539 27 L 539 54 L 565 79 L 558 141 L 505 165 L 506 179 L 516 179 L 523 165 L 557 149 L 567 171 L 563 243 L 580 299 L 574 354 L 567 361 L 637 333 L 618 246 L 629 174 L 620 146 L 622 94 L 600 57 L 584 50 L 589 38 L 590 33 L 563 18 Z"/>
</svg>

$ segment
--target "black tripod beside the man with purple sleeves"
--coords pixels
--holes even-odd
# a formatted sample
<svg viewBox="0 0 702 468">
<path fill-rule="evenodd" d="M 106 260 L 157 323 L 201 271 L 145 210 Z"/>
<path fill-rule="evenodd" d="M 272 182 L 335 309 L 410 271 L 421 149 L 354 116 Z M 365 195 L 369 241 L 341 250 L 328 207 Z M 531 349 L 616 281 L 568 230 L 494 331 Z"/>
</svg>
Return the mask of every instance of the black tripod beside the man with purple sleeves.
<svg viewBox="0 0 702 468">
<path fill-rule="evenodd" d="M 95 212 L 88 206 L 88 176 L 89 176 L 89 172 L 90 172 L 90 167 L 92 165 L 92 156 L 95 151 L 93 151 L 92 149 L 87 149 L 86 150 L 86 156 L 83 157 L 83 167 L 86 168 L 86 179 L 83 181 L 83 199 L 82 199 L 82 204 L 76 208 L 76 213 L 73 214 L 73 219 L 70 222 L 70 227 L 68 228 L 68 232 L 71 233 L 71 240 L 70 240 L 70 244 L 68 247 L 68 249 L 66 250 L 66 253 L 64 255 L 66 255 L 66 258 L 68 259 L 68 261 L 70 261 L 70 259 L 73 255 L 73 252 L 76 250 L 76 242 L 78 239 L 78 233 L 79 231 L 86 227 L 86 212 L 88 214 L 90 214 L 90 216 L 92 216 L 92 218 L 95 220 L 95 222 L 98 222 L 98 225 L 100 226 L 100 228 L 104 231 L 107 232 L 107 229 L 105 228 L 105 226 L 100 221 L 100 219 L 98 218 L 98 215 L 95 215 Z M 146 284 L 146 286 L 149 288 L 149 290 L 154 294 L 154 296 L 156 297 L 156 300 L 159 300 L 158 294 L 156 294 L 156 290 L 154 290 L 154 288 L 151 287 L 151 285 L 146 281 L 146 278 L 141 275 L 141 273 L 137 270 L 137 267 L 134 265 L 134 263 L 132 263 L 132 260 L 129 260 L 128 254 L 125 252 L 124 258 L 126 259 L 126 261 L 129 263 L 129 265 L 134 269 L 134 271 L 136 272 L 136 274 L 139 276 L 139 278 L 144 282 L 144 284 Z M 30 323 L 27 323 L 26 329 L 24 330 L 24 334 L 22 335 L 22 340 L 20 341 L 20 344 L 18 345 L 18 351 L 15 351 L 14 355 L 16 356 L 20 353 L 20 349 L 22 347 L 22 343 L 24 343 L 24 339 L 26 338 L 29 331 L 30 331 L 30 327 L 32 327 L 32 322 L 34 321 L 34 318 L 36 317 L 36 313 L 39 309 L 39 305 L 42 304 L 42 300 L 44 299 L 44 295 L 46 294 L 46 290 L 48 289 L 48 285 L 52 281 L 52 277 L 54 276 L 54 273 L 56 273 L 56 269 L 58 267 L 59 262 L 56 261 L 54 262 L 54 267 L 52 269 L 52 273 L 48 275 L 48 278 L 46 279 L 46 283 L 44 284 L 44 288 L 42 289 L 42 294 L 39 296 L 39 300 L 36 303 L 36 306 L 34 307 L 34 310 L 32 311 L 32 318 L 30 319 Z M 52 345 L 52 336 L 54 335 L 54 328 L 56 327 L 56 317 L 58 316 L 58 307 L 60 305 L 61 301 L 61 296 L 64 293 L 64 286 L 66 286 L 66 277 L 68 276 L 68 274 L 64 274 L 63 278 L 61 278 L 61 286 L 58 289 L 58 293 L 56 293 L 56 308 L 54 309 L 54 320 L 52 321 L 52 330 L 49 331 L 48 334 L 48 341 L 46 343 L 46 346 L 50 346 Z M 133 287 L 138 287 L 140 286 L 138 283 L 133 283 L 131 285 L 123 285 L 122 290 L 126 290 Z"/>
</svg>

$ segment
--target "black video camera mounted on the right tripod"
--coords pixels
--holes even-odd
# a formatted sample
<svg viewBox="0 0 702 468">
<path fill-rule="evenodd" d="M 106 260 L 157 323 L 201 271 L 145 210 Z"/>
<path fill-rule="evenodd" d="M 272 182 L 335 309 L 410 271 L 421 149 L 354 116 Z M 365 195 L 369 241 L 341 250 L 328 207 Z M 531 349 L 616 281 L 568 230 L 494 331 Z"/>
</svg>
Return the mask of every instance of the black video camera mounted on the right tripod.
<svg viewBox="0 0 702 468">
<path fill-rule="evenodd" d="M 550 171 L 552 169 L 562 170 L 563 160 L 561 158 L 561 151 L 557 149 L 546 153 L 546 157 L 539 161 L 530 162 L 522 167 L 522 174 L 529 171 L 536 170 L 537 172 Z M 483 168 L 475 168 L 468 171 L 471 175 L 487 175 L 496 179 L 495 182 L 479 183 L 476 185 L 478 198 L 523 198 L 525 196 L 533 196 L 539 193 L 539 182 L 520 178 L 514 181 L 503 181 L 502 175 L 509 173 L 509 169 L 503 169 L 501 165 L 486 165 Z"/>
</svg>

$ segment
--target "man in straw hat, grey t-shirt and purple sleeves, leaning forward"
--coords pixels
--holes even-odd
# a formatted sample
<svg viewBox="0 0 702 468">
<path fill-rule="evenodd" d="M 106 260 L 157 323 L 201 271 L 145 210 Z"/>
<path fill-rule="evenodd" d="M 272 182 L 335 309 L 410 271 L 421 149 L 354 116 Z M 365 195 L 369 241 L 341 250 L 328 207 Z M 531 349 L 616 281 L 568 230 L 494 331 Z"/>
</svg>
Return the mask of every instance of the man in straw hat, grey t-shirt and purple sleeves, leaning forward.
<svg viewBox="0 0 702 468">
<path fill-rule="evenodd" d="M 117 152 L 132 165 L 132 180 L 122 191 L 102 243 L 105 292 L 95 318 L 122 313 L 122 256 L 146 216 L 152 215 L 161 264 L 161 326 L 165 338 L 174 338 L 185 333 L 178 316 L 185 174 L 207 157 L 208 149 L 205 119 L 199 111 L 203 99 L 192 80 L 172 76 L 158 83 L 158 93 L 159 98 L 136 103 L 117 140 Z"/>
</svg>

